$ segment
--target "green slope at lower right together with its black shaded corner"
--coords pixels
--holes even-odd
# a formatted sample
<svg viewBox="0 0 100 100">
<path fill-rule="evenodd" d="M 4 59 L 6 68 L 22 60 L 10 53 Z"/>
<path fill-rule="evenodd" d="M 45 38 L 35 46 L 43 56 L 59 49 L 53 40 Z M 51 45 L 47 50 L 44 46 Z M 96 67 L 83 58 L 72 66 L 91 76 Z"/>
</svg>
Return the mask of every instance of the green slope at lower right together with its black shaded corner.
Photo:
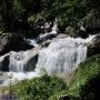
<svg viewBox="0 0 100 100">
<path fill-rule="evenodd" d="M 100 99 L 100 56 L 82 62 L 73 72 L 69 89 L 52 94 L 49 100 L 58 100 L 60 96 L 69 96 L 70 100 Z"/>
</svg>

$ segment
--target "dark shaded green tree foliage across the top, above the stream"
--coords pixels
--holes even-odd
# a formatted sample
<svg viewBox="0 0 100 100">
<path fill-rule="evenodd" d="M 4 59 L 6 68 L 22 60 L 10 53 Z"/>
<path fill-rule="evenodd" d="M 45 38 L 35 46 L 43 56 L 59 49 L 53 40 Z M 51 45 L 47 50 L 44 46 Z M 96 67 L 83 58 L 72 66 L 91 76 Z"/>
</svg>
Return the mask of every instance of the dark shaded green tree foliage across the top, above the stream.
<svg viewBox="0 0 100 100">
<path fill-rule="evenodd" d="M 13 30 L 14 21 L 57 18 L 59 28 L 64 32 L 68 26 L 76 27 L 92 10 L 100 12 L 99 4 L 97 0 L 1 0 L 0 13 L 2 27 L 10 30 Z"/>
</svg>

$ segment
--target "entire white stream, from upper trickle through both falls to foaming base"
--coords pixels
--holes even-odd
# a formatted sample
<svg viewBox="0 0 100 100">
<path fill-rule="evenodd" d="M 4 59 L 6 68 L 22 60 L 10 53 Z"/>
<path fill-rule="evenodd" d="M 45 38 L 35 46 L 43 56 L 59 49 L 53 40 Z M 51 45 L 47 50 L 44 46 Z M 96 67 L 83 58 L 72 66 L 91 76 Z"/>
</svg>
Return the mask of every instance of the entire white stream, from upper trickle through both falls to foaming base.
<svg viewBox="0 0 100 100">
<path fill-rule="evenodd" d="M 54 23 L 52 31 L 50 33 L 40 34 L 38 39 L 43 39 L 49 34 L 57 34 L 57 24 Z M 37 46 L 37 49 L 31 49 L 27 51 L 14 52 L 10 51 L 9 53 L 0 57 L 0 68 L 3 66 L 3 60 L 9 56 L 8 69 L 9 72 L 0 73 L 1 86 L 9 84 L 9 78 L 12 77 L 12 82 L 23 79 L 31 79 L 33 77 L 39 77 L 42 71 L 48 72 L 48 74 L 59 74 L 72 72 L 78 68 L 78 64 L 86 60 L 87 58 L 87 44 L 93 38 L 89 37 L 88 39 L 81 38 L 71 38 L 57 39 L 52 41 L 47 48 L 39 48 L 36 40 L 28 40 L 29 43 Z M 32 67 L 33 61 L 30 62 L 34 56 L 38 54 L 38 61 L 34 70 L 24 70 Z M 28 66 L 29 61 L 29 66 Z"/>
</svg>

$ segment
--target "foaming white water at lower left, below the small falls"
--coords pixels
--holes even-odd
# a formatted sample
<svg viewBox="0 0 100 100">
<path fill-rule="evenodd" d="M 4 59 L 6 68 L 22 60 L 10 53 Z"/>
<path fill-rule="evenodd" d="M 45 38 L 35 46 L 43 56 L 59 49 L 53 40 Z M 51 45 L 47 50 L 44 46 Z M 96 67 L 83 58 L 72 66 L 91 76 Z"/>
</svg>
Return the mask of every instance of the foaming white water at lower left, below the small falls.
<svg viewBox="0 0 100 100">
<path fill-rule="evenodd" d="M 36 73 L 34 71 L 30 71 L 30 72 L 1 72 L 0 77 L 0 87 L 8 87 L 11 84 L 16 84 L 19 81 L 26 80 L 26 79 L 32 79 L 34 77 L 39 77 L 38 73 Z"/>
</svg>

